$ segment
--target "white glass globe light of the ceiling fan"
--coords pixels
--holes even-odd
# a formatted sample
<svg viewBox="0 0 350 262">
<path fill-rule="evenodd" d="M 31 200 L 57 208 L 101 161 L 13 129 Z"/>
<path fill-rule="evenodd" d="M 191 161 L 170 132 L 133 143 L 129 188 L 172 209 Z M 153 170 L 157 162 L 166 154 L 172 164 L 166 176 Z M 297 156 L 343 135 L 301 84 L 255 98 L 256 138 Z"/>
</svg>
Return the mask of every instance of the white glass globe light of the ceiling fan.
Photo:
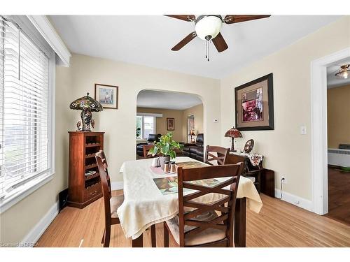
<svg viewBox="0 0 350 262">
<path fill-rule="evenodd" d="M 222 25 L 223 20 L 221 20 L 221 17 L 204 15 L 203 17 L 198 17 L 195 24 L 195 31 L 199 38 L 209 41 L 220 33 Z"/>
</svg>

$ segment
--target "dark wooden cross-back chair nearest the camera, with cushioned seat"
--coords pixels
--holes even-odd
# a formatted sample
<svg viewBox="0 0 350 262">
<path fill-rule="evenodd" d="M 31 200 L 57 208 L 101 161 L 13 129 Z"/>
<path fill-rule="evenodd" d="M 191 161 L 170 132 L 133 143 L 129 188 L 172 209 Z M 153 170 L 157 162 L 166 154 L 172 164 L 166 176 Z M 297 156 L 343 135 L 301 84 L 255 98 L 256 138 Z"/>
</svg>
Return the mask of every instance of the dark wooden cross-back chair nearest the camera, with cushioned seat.
<svg viewBox="0 0 350 262">
<path fill-rule="evenodd" d="M 233 219 L 242 168 L 243 163 L 178 168 L 179 214 L 164 222 L 165 247 L 169 247 L 169 233 L 180 247 L 233 247 Z M 218 177 L 228 179 L 212 187 L 193 183 Z M 183 196 L 184 189 L 196 191 Z M 213 193 L 223 198 L 210 204 L 200 202 L 200 197 Z"/>
</svg>

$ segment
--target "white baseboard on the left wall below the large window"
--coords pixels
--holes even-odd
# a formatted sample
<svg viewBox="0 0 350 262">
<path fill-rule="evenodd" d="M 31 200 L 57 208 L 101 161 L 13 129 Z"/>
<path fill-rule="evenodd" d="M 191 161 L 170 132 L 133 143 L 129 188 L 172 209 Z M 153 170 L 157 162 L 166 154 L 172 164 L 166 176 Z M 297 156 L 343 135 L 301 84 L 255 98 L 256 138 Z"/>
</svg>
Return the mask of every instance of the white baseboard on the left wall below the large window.
<svg viewBox="0 0 350 262">
<path fill-rule="evenodd" d="M 39 240 L 41 235 L 43 235 L 44 231 L 48 226 L 50 226 L 51 222 L 57 216 L 59 211 L 59 204 L 56 202 L 50 210 L 43 216 L 40 221 L 31 229 L 31 231 L 23 238 L 22 242 L 20 242 L 20 247 L 33 247 L 36 242 Z"/>
</svg>

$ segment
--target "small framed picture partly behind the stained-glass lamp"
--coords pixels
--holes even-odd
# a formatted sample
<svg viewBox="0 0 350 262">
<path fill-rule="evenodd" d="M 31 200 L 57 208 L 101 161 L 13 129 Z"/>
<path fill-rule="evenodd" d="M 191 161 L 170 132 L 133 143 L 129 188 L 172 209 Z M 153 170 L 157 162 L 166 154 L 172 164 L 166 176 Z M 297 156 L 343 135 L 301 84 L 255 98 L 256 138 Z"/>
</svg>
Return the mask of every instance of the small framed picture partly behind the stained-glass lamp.
<svg viewBox="0 0 350 262">
<path fill-rule="evenodd" d="M 104 108 L 118 109 L 118 87 L 94 84 L 94 99 L 99 101 Z"/>
</svg>

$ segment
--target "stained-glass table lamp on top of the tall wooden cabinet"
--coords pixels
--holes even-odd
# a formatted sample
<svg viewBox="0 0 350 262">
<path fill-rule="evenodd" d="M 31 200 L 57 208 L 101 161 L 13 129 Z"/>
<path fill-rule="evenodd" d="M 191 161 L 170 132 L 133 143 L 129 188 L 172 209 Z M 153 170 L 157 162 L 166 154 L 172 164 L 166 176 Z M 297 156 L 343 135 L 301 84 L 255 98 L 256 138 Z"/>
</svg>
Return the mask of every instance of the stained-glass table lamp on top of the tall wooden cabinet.
<svg viewBox="0 0 350 262">
<path fill-rule="evenodd" d="M 92 99 L 92 97 L 89 96 L 89 93 L 87 93 L 86 96 L 80 97 L 80 99 L 76 99 L 71 102 L 69 108 L 73 110 L 82 110 L 80 113 L 81 122 L 83 124 L 81 131 L 91 131 L 90 125 L 92 112 L 99 112 L 104 110 L 98 101 Z"/>
</svg>

